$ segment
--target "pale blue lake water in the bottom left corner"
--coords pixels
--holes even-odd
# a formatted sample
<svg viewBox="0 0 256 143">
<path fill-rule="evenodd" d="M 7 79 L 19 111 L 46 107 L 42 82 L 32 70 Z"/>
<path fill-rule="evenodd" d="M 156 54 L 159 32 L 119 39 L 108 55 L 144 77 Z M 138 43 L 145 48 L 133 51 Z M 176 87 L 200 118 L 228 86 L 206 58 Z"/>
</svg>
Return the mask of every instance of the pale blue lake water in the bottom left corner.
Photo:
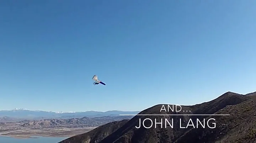
<svg viewBox="0 0 256 143">
<path fill-rule="evenodd" d="M 0 143 L 58 143 L 66 138 L 69 137 L 12 138 L 0 136 Z"/>
</svg>

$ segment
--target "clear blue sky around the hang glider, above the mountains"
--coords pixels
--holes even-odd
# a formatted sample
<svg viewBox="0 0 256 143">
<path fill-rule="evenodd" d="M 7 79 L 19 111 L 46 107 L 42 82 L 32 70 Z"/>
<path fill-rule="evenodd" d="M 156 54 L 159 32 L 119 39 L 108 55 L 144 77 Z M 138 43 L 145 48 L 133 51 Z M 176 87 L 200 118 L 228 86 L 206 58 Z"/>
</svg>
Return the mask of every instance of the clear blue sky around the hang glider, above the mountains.
<svg viewBox="0 0 256 143">
<path fill-rule="evenodd" d="M 143 110 L 256 91 L 255 0 L 9 0 L 0 110 Z M 93 75 L 106 83 L 92 85 Z"/>
</svg>

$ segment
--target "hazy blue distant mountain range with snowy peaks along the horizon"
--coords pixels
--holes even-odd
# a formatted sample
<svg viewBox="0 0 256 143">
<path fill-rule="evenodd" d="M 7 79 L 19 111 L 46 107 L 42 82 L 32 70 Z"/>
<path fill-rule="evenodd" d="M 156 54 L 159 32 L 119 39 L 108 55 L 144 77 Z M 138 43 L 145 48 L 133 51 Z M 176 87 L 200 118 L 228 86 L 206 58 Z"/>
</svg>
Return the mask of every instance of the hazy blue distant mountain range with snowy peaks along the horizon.
<svg viewBox="0 0 256 143">
<path fill-rule="evenodd" d="M 1 110 L 1 117 L 18 118 L 18 119 L 69 119 L 69 118 L 83 118 L 83 117 L 102 117 L 102 116 L 119 116 L 120 114 L 138 114 L 140 111 L 84 111 L 84 112 L 52 112 L 28 109 L 14 109 L 14 110 Z"/>
</svg>

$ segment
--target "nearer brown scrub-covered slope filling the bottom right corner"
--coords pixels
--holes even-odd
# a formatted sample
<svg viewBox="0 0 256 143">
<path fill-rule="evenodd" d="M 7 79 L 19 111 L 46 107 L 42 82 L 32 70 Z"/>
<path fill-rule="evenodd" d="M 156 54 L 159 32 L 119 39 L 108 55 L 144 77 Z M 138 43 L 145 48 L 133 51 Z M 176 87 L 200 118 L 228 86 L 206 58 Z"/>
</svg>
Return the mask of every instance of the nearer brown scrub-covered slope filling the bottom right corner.
<svg viewBox="0 0 256 143">
<path fill-rule="evenodd" d="M 177 139 L 175 143 L 255 143 L 255 109 L 255 100 L 225 107 L 217 114 L 230 114 L 230 116 L 208 117 L 216 119 L 216 128 L 193 128 Z"/>
</svg>

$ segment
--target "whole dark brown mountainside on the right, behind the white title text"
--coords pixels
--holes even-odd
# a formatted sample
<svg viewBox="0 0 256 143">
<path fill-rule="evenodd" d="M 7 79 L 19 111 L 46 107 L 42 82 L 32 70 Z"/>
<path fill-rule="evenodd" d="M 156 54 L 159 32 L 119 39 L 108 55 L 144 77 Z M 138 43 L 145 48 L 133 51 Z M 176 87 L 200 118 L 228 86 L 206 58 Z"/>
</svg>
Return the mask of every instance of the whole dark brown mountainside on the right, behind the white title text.
<svg viewBox="0 0 256 143">
<path fill-rule="evenodd" d="M 165 105 L 167 110 L 167 105 Z M 162 116 L 135 116 L 123 121 L 111 122 L 82 135 L 68 138 L 60 143 L 253 143 L 256 142 L 256 99 L 254 93 L 240 95 L 227 92 L 213 101 L 193 106 L 182 106 L 181 111 L 161 111 L 155 105 L 139 114 L 162 114 Z M 179 110 L 179 109 L 178 109 Z M 166 115 L 179 114 L 179 115 Z M 188 116 L 184 114 L 230 114 L 229 116 Z M 153 120 L 151 128 L 139 126 L 139 120 Z M 209 120 L 214 118 L 214 120 Z M 168 122 L 165 122 L 167 119 Z M 155 121 L 161 122 L 156 124 Z M 173 120 L 173 124 L 172 124 Z M 205 120 L 205 128 L 199 122 Z M 207 121 L 209 120 L 209 124 Z M 191 125 L 192 122 L 194 126 Z M 213 123 L 216 123 L 215 128 Z M 198 127 L 197 127 L 198 123 Z M 146 127 L 151 121 L 144 122 Z M 207 126 L 208 125 L 208 126 Z M 165 127 L 166 126 L 166 127 Z M 187 126 L 187 127 L 186 127 Z M 181 128 L 185 127 L 185 128 Z"/>
</svg>

